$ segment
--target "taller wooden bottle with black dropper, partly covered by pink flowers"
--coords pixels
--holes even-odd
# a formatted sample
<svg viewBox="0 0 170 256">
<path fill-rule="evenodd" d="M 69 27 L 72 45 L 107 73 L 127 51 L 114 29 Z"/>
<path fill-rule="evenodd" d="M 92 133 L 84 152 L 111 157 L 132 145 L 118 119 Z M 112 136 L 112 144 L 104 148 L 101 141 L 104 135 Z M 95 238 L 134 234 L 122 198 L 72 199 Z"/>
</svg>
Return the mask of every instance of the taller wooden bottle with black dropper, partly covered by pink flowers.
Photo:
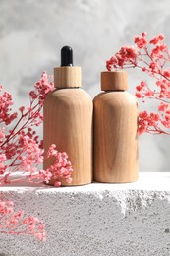
<svg viewBox="0 0 170 256">
<path fill-rule="evenodd" d="M 81 67 L 73 66 L 73 51 L 61 49 L 61 66 L 54 68 L 55 90 L 44 101 L 43 141 L 45 153 L 51 144 L 66 152 L 74 172 L 72 182 L 84 185 L 92 179 L 92 99 L 81 89 Z M 44 160 L 44 169 L 53 159 Z M 55 180 L 50 184 L 54 185 Z"/>
</svg>

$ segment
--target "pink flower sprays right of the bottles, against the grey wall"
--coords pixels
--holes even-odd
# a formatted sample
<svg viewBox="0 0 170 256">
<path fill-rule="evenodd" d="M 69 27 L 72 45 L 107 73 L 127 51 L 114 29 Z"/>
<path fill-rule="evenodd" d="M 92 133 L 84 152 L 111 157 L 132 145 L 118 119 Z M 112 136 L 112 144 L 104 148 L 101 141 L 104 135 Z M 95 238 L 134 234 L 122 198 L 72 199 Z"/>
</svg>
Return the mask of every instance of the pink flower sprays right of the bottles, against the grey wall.
<svg viewBox="0 0 170 256">
<path fill-rule="evenodd" d="M 136 86 L 136 96 L 145 102 L 155 99 L 157 112 L 143 111 L 139 115 L 139 133 L 170 134 L 170 53 L 164 42 L 164 35 L 159 34 L 147 39 L 147 32 L 135 36 L 133 46 L 124 46 L 106 61 L 108 71 L 139 68 L 155 79 L 155 89 L 145 81 Z"/>
</svg>

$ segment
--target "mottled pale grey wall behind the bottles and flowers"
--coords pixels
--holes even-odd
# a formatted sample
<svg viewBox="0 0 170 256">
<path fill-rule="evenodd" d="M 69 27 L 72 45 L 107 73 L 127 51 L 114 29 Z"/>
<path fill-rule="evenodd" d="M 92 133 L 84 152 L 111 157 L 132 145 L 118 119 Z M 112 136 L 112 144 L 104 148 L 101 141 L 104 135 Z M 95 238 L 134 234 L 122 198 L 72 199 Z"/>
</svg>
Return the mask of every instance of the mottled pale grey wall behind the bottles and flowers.
<svg viewBox="0 0 170 256">
<path fill-rule="evenodd" d="M 0 0 L 0 83 L 13 94 L 15 107 L 28 104 L 28 91 L 46 70 L 60 64 L 60 48 L 70 45 L 82 66 L 83 88 L 94 97 L 105 60 L 134 35 L 164 33 L 170 44 L 169 0 Z M 129 72 L 129 91 L 145 79 Z M 144 106 L 155 109 L 155 103 Z M 169 136 L 142 135 L 141 171 L 169 171 Z"/>
</svg>

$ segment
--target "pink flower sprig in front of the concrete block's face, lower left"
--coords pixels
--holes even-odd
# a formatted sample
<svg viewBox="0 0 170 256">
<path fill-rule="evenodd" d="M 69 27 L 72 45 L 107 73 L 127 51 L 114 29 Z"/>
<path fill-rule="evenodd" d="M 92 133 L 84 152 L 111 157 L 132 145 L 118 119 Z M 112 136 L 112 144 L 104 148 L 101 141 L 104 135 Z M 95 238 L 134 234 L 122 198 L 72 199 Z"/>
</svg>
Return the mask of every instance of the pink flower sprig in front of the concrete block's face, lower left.
<svg viewBox="0 0 170 256">
<path fill-rule="evenodd" d="M 36 217 L 26 217 L 23 211 L 14 212 L 12 201 L 0 200 L 0 233 L 30 234 L 45 241 L 45 226 Z"/>
</svg>

